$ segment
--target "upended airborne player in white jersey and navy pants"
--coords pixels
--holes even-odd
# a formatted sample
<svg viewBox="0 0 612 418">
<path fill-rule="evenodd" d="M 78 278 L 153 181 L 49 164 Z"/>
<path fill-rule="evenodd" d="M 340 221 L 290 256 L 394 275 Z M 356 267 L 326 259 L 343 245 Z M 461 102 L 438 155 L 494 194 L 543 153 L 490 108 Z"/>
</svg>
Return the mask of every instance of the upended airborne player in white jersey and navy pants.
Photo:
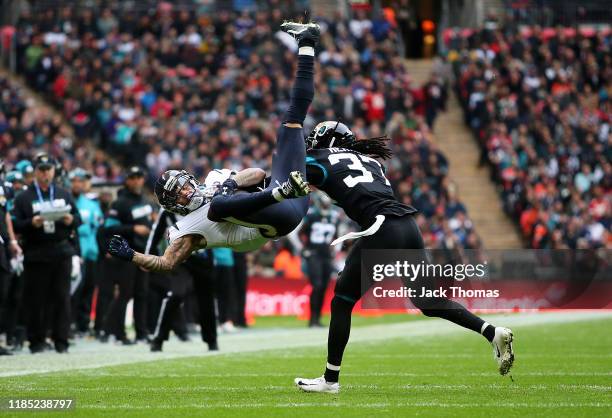
<svg viewBox="0 0 612 418">
<path fill-rule="evenodd" d="M 298 68 L 289 108 L 277 134 L 272 174 L 267 187 L 241 192 L 264 181 L 265 172 L 211 172 L 204 185 L 186 171 L 166 171 L 155 184 L 160 205 L 183 215 L 168 234 L 162 256 L 141 254 L 115 236 L 108 251 L 150 271 L 169 271 L 200 248 L 229 247 L 249 251 L 295 229 L 308 210 L 306 148 L 302 124 L 314 97 L 314 55 L 320 28 L 314 23 L 286 22 L 281 29 L 298 43 Z"/>
</svg>

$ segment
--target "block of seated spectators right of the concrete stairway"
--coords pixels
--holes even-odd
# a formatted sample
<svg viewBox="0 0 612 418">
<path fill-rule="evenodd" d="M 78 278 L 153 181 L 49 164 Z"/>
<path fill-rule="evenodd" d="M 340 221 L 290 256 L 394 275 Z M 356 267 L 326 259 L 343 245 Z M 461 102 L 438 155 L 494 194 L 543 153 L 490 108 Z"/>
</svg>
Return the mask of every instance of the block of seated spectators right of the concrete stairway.
<svg viewBox="0 0 612 418">
<path fill-rule="evenodd" d="M 447 37 L 466 123 L 532 248 L 612 247 L 612 34 L 511 25 Z"/>
</svg>

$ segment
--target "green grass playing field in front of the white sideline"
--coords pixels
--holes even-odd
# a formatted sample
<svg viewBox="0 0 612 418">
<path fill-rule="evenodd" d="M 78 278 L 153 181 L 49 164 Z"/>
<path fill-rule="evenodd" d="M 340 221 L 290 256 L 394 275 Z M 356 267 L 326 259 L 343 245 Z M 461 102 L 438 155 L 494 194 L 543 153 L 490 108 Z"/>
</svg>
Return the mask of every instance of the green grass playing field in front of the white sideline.
<svg viewBox="0 0 612 418">
<path fill-rule="evenodd" d="M 88 417 L 612 416 L 609 316 L 513 326 L 517 354 L 513 380 L 496 373 L 490 347 L 469 332 L 402 338 L 390 328 L 388 338 L 369 342 L 367 335 L 359 338 L 360 326 L 366 330 L 374 322 L 379 327 L 406 325 L 397 324 L 398 320 L 357 320 L 358 338 L 345 354 L 339 395 L 306 394 L 293 386 L 295 376 L 321 375 L 323 338 L 305 348 L 4 377 L 0 378 L 0 398 L 72 397 L 76 408 L 64 413 Z M 262 321 L 259 325 L 273 329 L 278 324 Z M 283 327 L 292 324 L 296 322 L 281 322 Z M 429 319 L 407 325 L 414 324 L 442 326 Z M 0 371 L 1 367 L 0 363 Z"/>
</svg>

